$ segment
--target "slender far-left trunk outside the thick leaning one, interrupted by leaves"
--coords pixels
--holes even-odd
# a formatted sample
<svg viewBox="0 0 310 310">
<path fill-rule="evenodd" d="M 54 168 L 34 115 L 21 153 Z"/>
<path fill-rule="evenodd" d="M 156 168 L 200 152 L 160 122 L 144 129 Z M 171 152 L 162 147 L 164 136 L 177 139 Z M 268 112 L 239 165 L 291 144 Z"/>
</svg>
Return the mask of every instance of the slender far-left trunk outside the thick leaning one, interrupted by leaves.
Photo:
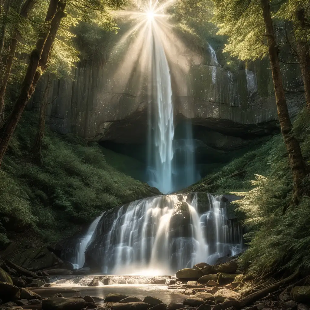
<svg viewBox="0 0 310 310">
<path fill-rule="evenodd" d="M 24 17 L 24 18 L 28 18 L 34 4 L 36 3 L 36 0 L 27 0 L 20 12 L 20 16 Z M 19 31 L 14 28 L 13 31 L 13 35 L 11 38 L 11 42 L 10 42 L 10 46 L 9 46 L 9 53 L 7 56 L 7 60 L 6 63 L 4 65 L 4 74 L 3 74 L 3 78 L 1 78 L 0 80 L 0 125 L 1 125 L 1 115 L 2 115 L 2 111 L 3 111 L 3 106 L 4 106 L 4 97 L 5 97 L 5 92 L 7 89 L 7 82 L 10 78 L 10 74 L 11 74 L 11 69 L 12 69 L 12 64 L 13 64 L 13 60 L 15 57 L 15 53 L 16 53 L 16 48 L 17 48 L 17 44 L 21 39 L 21 35 L 19 33 Z"/>
</svg>

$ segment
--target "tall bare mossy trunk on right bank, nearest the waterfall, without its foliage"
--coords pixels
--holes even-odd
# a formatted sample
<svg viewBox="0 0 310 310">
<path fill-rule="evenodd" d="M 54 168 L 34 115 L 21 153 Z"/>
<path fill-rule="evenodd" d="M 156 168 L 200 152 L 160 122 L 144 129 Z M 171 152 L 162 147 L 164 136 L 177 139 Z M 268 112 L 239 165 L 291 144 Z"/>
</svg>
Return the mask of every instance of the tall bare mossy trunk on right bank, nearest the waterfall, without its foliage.
<svg viewBox="0 0 310 310">
<path fill-rule="evenodd" d="M 281 133 L 284 138 L 286 150 L 289 157 L 290 167 L 293 175 L 293 198 L 291 201 L 292 205 L 299 203 L 299 198 L 304 194 L 302 181 L 305 175 L 308 173 L 308 166 L 306 165 L 299 142 L 294 136 L 292 123 L 286 104 L 285 93 L 282 83 L 280 63 L 277 47 L 277 42 L 272 26 L 272 19 L 270 15 L 270 4 L 269 0 L 261 0 L 263 9 L 263 18 L 265 22 L 265 31 L 268 43 L 268 54 L 272 69 L 272 79 L 274 92 L 276 95 L 276 103 L 278 110 L 278 117 L 281 126 Z"/>
</svg>

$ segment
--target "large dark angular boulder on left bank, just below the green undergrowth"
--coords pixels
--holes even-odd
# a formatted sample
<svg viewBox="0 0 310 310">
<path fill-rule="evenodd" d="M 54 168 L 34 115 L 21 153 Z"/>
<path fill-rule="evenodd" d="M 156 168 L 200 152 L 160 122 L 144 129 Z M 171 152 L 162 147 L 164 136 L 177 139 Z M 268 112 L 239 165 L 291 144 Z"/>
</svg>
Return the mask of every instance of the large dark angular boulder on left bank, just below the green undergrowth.
<svg viewBox="0 0 310 310">
<path fill-rule="evenodd" d="M 31 271 L 42 270 L 53 266 L 53 255 L 45 246 L 27 249 L 18 255 L 9 255 L 7 258 L 17 266 Z"/>
</svg>

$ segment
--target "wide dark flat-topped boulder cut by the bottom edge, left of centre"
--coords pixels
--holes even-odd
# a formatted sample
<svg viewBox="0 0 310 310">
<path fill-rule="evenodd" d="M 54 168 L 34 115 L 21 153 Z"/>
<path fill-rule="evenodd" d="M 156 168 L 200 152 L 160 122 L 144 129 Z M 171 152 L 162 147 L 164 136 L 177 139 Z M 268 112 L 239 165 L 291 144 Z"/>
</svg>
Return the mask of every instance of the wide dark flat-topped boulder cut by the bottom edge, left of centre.
<svg viewBox="0 0 310 310">
<path fill-rule="evenodd" d="M 44 310 L 81 310 L 85 306 L 85 300 L 81 298 L 49 297 L 42 300 Z"/>
</svg>

